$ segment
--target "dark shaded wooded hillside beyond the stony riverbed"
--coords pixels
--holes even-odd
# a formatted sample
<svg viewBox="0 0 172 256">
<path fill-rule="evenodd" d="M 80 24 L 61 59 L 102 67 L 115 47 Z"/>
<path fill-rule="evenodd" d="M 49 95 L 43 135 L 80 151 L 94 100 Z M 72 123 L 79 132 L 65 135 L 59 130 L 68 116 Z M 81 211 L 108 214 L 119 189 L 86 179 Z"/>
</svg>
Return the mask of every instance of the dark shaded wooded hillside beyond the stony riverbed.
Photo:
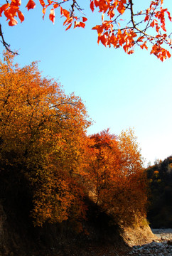
<svg viewBox="0 0 172 256">
<path fill-rule="evenodd" d="M 172 156 L 149 166 L 146 173 L 150 225 L 152 228 L 172 228 Z"/>
</svg>

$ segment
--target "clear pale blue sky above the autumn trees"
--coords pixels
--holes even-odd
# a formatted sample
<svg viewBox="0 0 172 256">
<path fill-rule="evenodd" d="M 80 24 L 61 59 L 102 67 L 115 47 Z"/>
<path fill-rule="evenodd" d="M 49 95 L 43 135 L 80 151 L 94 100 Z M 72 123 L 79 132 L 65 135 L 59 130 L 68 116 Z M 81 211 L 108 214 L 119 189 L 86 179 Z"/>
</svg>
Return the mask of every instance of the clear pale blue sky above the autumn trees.
<svg viewBox="0 0 172 256">
<path fill-rule="evenodd" d="M 172 155 L 172 57 L 161 63 L 139 48 L 127 55 L 122 49 L 98 46 L 97 33 L 91 28 L 100 23 L 101 16 L 92 14 L 89 0 L 84 3 L 86 28 L 69 31 L 59 11 L 53 25 L 49 12 L 42 20 L 38 0 L 36 4 L 36 9 L 23 11 L 25 21 L 18 21 L 17 26 L 9 27 L 0 18 L 5 40 L 18 50 L 16 62 L 23 66 L 40 60 L 43 76 L 58 80 L 66 93 L 79 95 L 95 121 L 88 134 L 107 128 L 119 134 L 133 127 L 146 161 L 154 164 L 155 159 Z M 165 0 L 165 6 L 172 13 L 172 1 Z M 172 32 L 172 23 L 168 29 Z"/>
</svg>

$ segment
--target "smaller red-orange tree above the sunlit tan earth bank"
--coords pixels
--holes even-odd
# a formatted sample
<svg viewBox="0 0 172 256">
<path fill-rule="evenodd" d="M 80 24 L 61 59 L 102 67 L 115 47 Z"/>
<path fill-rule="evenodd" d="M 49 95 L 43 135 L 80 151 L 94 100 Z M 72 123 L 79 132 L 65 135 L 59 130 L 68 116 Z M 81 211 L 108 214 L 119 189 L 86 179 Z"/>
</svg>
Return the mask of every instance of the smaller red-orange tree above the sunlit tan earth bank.
<svg viewBox="0 0 172 256">
<path fill-rule="evenodd" d="M 109 129 L 90 136 L 87 152 L 89 194 L 118 224 L 146 217 L 146 176 L 134 133 L 119 137 Z"/>
</svg>

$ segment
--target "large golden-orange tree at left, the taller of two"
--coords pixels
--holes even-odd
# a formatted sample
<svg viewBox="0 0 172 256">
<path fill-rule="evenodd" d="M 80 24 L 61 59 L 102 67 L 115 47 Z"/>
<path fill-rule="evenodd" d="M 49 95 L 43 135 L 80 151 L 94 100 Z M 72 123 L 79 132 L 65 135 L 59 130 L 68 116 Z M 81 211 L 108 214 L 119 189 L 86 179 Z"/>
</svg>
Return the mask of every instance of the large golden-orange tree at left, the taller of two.
<svg viewBox="0 0 172 256">
<path fill-rule="evenodd" d="M 13 58 L 6 52 L 0 60 L 1 175 L 11 171 L 28 181 L 36 225 L 80 220 L 80 166 L 90 125 L 85 106 L 58 82 L 41 78 L 36 63 L 19 68 Z"/>
</svg>

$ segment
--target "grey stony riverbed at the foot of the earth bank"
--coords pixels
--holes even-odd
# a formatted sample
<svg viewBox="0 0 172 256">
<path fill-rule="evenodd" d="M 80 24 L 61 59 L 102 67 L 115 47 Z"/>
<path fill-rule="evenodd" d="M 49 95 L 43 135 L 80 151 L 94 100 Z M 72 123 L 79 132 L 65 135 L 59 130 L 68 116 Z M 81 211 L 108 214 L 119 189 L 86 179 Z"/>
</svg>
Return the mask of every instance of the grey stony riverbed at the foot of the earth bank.
<svg viewBox="0 0 172 256">
<path fill-rule="evenodd" d="M 152 232 L 156 235 L 156 240 L 145 245 L 133 246 L 127 255 L 172 256 L 172 229 L 154 229 Z"/>
</svg>

